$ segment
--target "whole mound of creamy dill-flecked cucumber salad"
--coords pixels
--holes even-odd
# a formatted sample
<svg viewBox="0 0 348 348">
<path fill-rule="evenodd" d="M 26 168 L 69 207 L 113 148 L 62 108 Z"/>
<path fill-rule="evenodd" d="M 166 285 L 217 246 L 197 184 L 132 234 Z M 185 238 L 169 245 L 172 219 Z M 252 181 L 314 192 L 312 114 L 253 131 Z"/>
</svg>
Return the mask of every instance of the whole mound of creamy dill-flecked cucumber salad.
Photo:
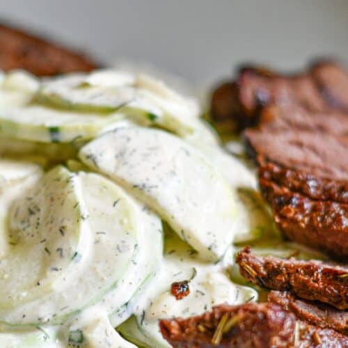
<svg viewBox="0 0 348 348">
<path fill-rule="evenodd" d="M 170 347 L 159 319 L 258 301 L 235 253 L 299 247 L 200 116 L 146 74 L 1 74 L 1 347 Z"/>
</svg>

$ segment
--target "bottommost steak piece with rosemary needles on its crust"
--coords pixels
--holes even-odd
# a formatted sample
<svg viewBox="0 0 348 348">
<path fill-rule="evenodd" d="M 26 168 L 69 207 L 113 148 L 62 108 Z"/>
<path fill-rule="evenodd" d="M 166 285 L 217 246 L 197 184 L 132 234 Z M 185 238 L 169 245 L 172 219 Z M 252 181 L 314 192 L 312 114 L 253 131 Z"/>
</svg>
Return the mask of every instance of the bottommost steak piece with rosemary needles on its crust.
<svg viewBox="0 0 348 348">
<path fill-rule="evenodd" d="M 188 319 L 163 319 L 161 333 L 177 348 L 347 347 L 348 338 L 331 329 L 299 322 L 274 303 L 216 306 Z"/>
</svg>

